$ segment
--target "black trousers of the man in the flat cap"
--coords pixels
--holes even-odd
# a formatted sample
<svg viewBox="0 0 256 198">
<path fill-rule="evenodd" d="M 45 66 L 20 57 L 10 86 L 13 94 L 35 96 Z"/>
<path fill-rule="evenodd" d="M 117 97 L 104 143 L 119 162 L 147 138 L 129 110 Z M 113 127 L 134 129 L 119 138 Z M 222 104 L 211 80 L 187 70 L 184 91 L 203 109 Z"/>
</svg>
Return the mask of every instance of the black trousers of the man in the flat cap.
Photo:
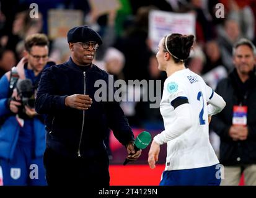
<svg viewBox="0 0 256 198">
<path fill-rule="evenodd" d="M 43 162 L 49 186 L 109 186 L 107 152 L 94 158 L 70 158 L 47 148 Z"/>
</svg>

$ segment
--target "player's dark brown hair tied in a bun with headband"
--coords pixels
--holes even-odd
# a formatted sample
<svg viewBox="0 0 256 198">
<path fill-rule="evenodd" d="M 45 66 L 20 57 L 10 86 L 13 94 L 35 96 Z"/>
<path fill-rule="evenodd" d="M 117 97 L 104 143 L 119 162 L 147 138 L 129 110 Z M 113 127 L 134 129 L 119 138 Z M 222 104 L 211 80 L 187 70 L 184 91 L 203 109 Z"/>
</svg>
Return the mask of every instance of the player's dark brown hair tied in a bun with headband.
<svg viewBox="0 0 256 198">
<path fill-rule="evenodd" d="M 180 33 L 167 35 L 164 37 L 164 51 L 172 55 L 175 63 L 184 62 L 190 54 L 194 38 L 194 35 L 181 35 Z"/>
</svg>

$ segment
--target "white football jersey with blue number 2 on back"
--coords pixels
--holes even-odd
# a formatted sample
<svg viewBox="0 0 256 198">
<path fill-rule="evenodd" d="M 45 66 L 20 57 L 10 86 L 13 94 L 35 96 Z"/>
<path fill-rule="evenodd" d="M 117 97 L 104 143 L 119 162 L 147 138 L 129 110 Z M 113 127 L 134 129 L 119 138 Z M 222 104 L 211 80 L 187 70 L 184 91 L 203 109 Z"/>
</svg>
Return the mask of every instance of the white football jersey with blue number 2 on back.
<svg viewBox="0 0 256 198">
<path fill-rule="evenodd" d="M 165 131 L 175 127 L 172 126 L 176 119 L 172 106 L 175 98 L 187 98 L 193 110 L 192 127 L 167 142 L 165 170 L 201 168 L 219 163 L 209 140 L 207 102 L 213 94 L 200 75 L 189 69 L 174 72 L 164 82 L 160 111 Z"/>
</svg>

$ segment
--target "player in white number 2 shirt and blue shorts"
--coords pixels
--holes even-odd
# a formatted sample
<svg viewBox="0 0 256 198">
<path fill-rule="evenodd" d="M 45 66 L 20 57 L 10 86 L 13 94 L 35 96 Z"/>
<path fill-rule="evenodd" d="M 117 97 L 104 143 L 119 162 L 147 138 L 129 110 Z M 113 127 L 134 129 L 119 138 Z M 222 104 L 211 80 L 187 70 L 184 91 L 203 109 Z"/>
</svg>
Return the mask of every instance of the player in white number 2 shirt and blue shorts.
<svg viewBox="0 0 256 198">
<path fill-rule="evenodd" d="M 173 33 L 162 38 L 156 54 L 159 70 L 166 71 L 160 111 L 165 130 L 154 137 L 150 168 L 156 167 L 160 145 L 167 143 L 166 168 L 161 186 L 219 185 L 219 160 L 209 140 L 211 116 L 226 106 L 200 75 L 185 68 L 193 35 Z M 219 171 L 219 174 L 218 174 Z"/>
</svg>

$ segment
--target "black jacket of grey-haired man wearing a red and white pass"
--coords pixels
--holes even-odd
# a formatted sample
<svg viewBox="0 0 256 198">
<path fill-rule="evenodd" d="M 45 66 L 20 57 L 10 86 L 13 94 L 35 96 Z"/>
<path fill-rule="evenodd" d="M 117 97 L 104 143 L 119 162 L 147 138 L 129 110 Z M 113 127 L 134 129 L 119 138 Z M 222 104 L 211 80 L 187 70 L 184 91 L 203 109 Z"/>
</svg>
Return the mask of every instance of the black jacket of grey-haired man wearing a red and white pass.
<svg viewBox="0 0 256 198">
<path fill-rule="evenodd" d="M 223 165 L 242 165 L 256 163 L 256 77 L 242 83 L 236 69 L 219 82 L 216 93 L 226 101 L 221 113 L 213 116 L 210 126 L 221 138 L 220 162 Z M 232 125 L 234 105 L 248 106 L 247 127 L 249 135 L 246 140 L 234 141 L 228 135 Z"/>
</svg>

